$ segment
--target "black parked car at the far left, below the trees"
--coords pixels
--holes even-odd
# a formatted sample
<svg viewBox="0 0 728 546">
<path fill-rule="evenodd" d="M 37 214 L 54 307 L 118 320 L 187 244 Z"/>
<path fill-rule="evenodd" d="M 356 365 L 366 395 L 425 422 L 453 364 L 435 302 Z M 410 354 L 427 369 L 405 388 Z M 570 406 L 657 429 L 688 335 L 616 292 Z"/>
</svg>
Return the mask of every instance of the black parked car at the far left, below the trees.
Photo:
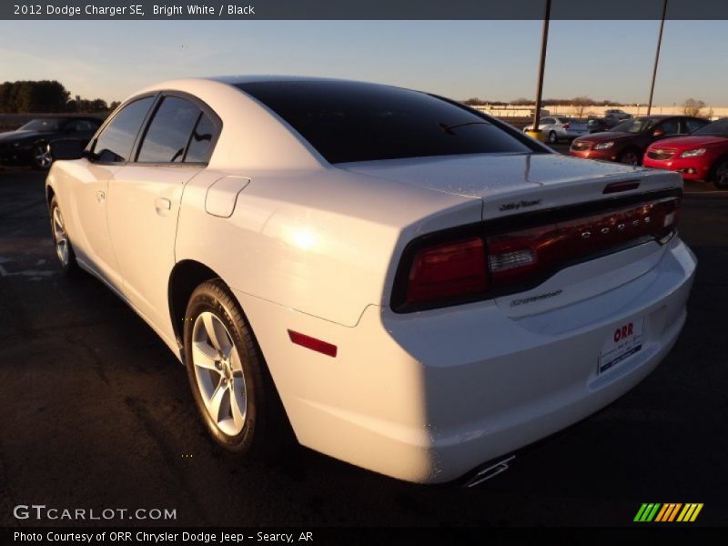
<svg viewBox="0 0 728 546">
<path fill-rule="evenodd" d="M 0 165 L 30 165 L 47 169 L 53 163 L 48 143 L 78 140 L 84 146 L 102 123 L 97 117 L 42 117 L 15 131 L 0 133 Z"/>
</svg>

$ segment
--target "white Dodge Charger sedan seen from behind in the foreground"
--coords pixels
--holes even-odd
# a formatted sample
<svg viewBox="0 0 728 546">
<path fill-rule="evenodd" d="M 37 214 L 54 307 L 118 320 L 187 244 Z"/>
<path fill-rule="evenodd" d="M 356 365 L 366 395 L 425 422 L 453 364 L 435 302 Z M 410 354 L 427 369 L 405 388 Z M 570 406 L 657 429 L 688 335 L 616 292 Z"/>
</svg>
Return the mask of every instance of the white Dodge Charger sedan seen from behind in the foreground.
<svg viewBox="0 0 728 546">
<path fill-rule="evenodd" d="M 502 470 L 685 320 L 679 175 L 561 157 L 440 96 L 168 81 L 52 151 L 62 267 L 164 339 L 238 453 L 288 434 L 401 480 Z"/>
</svg>

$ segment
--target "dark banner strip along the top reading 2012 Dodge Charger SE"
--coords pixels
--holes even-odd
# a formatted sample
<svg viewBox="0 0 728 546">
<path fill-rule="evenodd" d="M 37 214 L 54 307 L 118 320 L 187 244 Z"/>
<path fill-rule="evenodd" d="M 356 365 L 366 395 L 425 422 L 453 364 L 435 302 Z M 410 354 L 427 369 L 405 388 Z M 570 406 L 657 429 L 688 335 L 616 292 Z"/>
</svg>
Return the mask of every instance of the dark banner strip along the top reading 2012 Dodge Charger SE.
<svg viewBox="0 0 728 546">
<path fill-rule="evenodd" d="M 20 0 L 10 20 L 539 20 L 543 0 Z M 658 20 L 662 0 L 552 0 L 558 20 Z M 726 0 L 669 0 L 667 19 L 728 20 Z"/>
</svg>

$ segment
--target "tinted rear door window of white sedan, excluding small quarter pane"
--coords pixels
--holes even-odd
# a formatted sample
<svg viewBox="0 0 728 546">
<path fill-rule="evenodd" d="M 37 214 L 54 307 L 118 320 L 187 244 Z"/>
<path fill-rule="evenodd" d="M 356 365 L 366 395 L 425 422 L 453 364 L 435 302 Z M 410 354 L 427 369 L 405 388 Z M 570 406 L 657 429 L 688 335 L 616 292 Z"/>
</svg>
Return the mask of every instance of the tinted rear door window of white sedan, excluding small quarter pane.
<svg viewBox="0 0 728 546">
<path fill-rule="evenodd" d="M 166 96 L 152 118 L 136 161 L 179 163 L 197 125 L 200 109 L 177 96 Z"/>
</svg>

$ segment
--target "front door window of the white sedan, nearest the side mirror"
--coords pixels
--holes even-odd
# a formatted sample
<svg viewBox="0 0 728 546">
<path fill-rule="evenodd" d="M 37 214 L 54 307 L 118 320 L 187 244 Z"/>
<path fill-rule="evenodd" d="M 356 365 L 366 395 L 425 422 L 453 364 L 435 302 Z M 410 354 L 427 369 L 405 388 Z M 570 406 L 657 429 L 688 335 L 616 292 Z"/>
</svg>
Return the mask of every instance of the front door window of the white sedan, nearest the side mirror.
<svg viewBox="0 0 728 546">
<path fill-rule="evenodd" d="M 124 106 L 104 127 L 92 150 L 96 161 L 102 163 L 123 163 L 129 160 L 136 134 L 144 123 L 153 96 L 140 98 Z"/>
</svg>

